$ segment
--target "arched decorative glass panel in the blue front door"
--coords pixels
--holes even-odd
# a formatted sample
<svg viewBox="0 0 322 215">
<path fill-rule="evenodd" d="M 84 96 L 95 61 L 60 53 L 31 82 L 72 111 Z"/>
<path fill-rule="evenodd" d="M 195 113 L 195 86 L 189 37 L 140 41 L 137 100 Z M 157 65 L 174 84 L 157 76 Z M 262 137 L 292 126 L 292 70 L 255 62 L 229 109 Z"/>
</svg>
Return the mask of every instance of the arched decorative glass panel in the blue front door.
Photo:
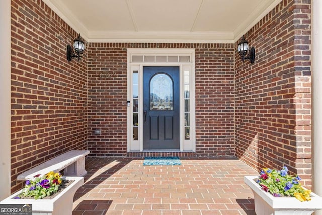
<svg viewBox="0 0 322 215">
<path fill-rule="evenodd" d="M 150 110 L 173 110 L 173 81 L 167 74 L 156 74 L 150 81 Z"/>
</svg>

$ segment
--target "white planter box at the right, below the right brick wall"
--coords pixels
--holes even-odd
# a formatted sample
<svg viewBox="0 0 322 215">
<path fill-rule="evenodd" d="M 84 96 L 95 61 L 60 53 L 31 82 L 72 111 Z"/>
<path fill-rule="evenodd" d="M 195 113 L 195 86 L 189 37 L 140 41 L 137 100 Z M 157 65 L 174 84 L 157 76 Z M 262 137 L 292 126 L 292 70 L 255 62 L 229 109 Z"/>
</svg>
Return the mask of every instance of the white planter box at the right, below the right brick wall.
<svg viewBox="0 0 322 215">
<path fill-rule="evenodd" d="M 282 215 L 282 214 L 312 214 L 315 210 L 322 209 L 322 198 L 311 193 L 311 201 L 300 202 L 295 197 L 274 197 L 265 192 L 254 181 L 258 176 L 245 176 L 245 183 L 254 194 L 255 212 L 257 215 Z"/>
</svg>

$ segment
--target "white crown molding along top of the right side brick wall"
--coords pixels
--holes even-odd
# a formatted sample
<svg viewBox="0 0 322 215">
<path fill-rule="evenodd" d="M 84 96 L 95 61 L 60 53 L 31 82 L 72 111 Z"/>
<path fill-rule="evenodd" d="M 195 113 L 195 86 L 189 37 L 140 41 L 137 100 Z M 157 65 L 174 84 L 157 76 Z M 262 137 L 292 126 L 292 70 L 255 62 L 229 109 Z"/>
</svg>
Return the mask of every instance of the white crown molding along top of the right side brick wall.
<svg viewBox="0 0 322 215">
<path fill-rule="evenodd" d="M 282 0 L 274 0 L 270 4 L 259 4 L 248 18 L 241 24 L 233 33 L 235 35 L 234 42 L 238 41 L 246 32 L 248 32 L 256 23 L 265 17 L 271 10 L 273 10 Z M 265 8 L 264 11 L 261 11 Z"/>
</svg>

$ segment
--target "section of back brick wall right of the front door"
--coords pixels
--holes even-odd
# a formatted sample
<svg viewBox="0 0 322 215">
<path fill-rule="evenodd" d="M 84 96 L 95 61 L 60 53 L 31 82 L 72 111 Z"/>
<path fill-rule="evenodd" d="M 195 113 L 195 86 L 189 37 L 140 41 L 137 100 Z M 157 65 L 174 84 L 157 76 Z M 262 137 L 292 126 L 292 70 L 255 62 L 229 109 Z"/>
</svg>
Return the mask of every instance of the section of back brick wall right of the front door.
<svg viewBox="0 0 322 215">
<path fill-rule="evenodd" d="M 235 156 L 232 44 L 196 48 L 197 156 Z"/>
</svg>

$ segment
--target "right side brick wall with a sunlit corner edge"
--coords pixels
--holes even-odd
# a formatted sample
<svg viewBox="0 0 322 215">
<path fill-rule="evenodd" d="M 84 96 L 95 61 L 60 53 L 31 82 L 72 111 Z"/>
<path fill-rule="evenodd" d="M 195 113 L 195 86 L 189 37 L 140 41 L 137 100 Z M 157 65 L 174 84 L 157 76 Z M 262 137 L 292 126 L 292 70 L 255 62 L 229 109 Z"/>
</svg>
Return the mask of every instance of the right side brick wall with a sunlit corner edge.
<svg viewBox="0 0 322 215">
<path fill-rule="evenodd" d="M 247 32 L 254 64 L 235 54 L 236 154 L 256 169 L 286 165 L 310 185 L 310 1 L 295 2 Z"/>
</svg>

